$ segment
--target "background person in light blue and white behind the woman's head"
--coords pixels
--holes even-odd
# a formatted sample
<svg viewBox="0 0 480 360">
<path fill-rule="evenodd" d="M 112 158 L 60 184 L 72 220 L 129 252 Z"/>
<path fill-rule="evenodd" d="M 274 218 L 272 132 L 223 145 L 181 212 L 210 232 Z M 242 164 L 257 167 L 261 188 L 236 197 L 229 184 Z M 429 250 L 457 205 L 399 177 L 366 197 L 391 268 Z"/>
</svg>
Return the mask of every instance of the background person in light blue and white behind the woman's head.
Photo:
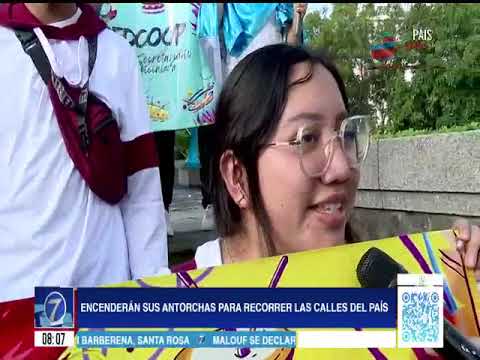
<svg viewBox="0 0 480 360">
<path fill-rule="evenodd" d="M 306 3 L 205 3 L 200 8 L 199 38 L 206 58 L 221 85 L 235 65 L 252 51 L 271 44 L 303 41 Z M 198 128 L 202 179 L 201 229 L 215 228 L 208 168 L 212 156 L 211 126 Z"/>
</svg>

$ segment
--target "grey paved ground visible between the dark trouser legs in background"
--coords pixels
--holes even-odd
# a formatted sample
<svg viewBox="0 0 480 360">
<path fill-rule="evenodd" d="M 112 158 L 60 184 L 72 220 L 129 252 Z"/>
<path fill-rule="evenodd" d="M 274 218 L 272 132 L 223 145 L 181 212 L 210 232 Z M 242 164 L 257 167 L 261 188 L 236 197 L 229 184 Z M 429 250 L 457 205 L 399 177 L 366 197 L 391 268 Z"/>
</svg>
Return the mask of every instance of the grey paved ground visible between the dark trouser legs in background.
<svg viewBox="0 0 480 360">
<path fill-rule="evenodd" d="M 173 237 L 168 237 L 171 265 L 191 259 L 198 246 L 216 238 L 215 231 L 200 229 L 203 218 L 200 188 L 176 186 L 170 217 L 175 232 Z"/>
</svg>

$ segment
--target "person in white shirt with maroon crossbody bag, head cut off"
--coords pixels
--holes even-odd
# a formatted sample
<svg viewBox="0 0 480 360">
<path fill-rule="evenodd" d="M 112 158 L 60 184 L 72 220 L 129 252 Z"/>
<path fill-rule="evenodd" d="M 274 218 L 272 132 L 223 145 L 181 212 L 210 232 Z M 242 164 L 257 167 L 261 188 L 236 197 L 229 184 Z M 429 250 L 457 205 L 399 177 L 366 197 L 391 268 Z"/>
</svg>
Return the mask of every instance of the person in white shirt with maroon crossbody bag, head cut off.
<svg viewBox="0 0 480 360">
<path fill-rule="evenodd" d="M 169 273 L 158 158 L 135 53 L 91 6 L 1 4 L 0 43 L 0 358 L 56 359 L 35 286 Z"/>
</svg>

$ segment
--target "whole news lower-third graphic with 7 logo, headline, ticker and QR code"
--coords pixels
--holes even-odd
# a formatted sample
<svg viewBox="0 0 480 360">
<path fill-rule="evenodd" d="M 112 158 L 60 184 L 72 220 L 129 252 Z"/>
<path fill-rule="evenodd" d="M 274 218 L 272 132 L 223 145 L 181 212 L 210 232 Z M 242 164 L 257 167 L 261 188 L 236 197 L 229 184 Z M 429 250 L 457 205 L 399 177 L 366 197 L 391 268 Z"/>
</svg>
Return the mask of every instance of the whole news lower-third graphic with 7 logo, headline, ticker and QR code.
<svg viewBox="0 0 480 360">
<path fill-rule="evenodd" d="M 397 289 L 36 288 L 35 346 L 442 347 L 442 275 L 401 276 Z"/>
</svg>

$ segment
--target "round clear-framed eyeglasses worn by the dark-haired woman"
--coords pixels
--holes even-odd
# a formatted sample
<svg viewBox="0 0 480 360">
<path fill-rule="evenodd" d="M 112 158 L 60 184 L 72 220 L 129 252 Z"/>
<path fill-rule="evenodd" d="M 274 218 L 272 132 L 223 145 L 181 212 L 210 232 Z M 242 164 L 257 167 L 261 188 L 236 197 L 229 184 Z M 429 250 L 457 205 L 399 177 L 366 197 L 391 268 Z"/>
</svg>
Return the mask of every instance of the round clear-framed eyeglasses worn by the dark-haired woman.
<svg viewBox="0 0 480 360">
<path fill-rule="evenodd" d="M 361 165 L 370 146 L 370 124 L 370 116 L 348 117 L 342 121 L 340 129 L 335 131 L 332 137 L 322 141 L 325 129 L 315 122 L 298 129 L 295 140 L 273 142 L 267 146 L 295 146 L 303 172 L 309 177 L 323 176 L 332 161 L 335 140 L 340 143 L 350 167 L 358 168 Z"/>
</svg>

